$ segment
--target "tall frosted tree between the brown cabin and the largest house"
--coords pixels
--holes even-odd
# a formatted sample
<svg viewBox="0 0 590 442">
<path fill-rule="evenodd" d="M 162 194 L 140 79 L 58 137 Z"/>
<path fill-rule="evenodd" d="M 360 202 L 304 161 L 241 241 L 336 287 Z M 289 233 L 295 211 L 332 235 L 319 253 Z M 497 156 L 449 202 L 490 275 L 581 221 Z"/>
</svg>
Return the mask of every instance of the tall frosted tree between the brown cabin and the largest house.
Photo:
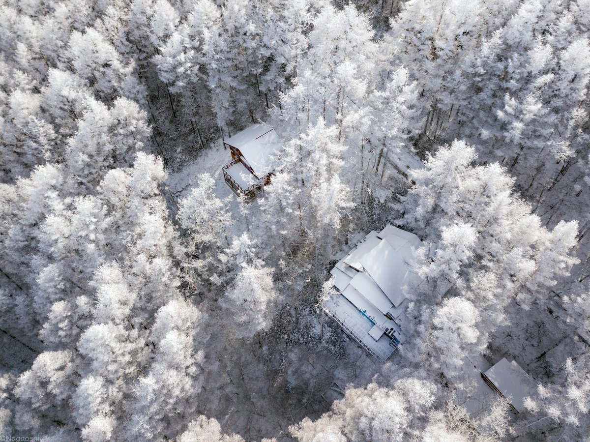
<svg viewBox="0 0 590 442">
<path fill-rule="evenodd" d="M 264 200 L 266 224 L 297 232 L 318 263 L 329 256 L 337 235 L 346 234 L 353 206 L 350 188 L 340 178 L 347 147 L 337 140 L 337 132 L 320 119 L 299 140 L 287 143 Z M 289 200 L 277 201 L 283 195 Z M 291 207 L 283 211 L 287 205 Z"/>
</svg>

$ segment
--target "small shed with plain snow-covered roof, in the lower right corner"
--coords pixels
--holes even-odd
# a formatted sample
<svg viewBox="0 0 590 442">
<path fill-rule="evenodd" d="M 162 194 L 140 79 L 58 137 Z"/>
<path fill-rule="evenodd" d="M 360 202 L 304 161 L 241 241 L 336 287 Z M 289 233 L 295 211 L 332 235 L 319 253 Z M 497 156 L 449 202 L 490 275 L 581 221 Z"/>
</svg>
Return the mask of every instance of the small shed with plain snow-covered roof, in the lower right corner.
<svg viewBox="0 0 590 442">
<path fill-rule="evenodd" d="M 517 412 L 525 409 L 525 398 L 536 391 L 536 382 L 516 361 L 502 358 L 496 365 L 481 374 L 493 390 L 505 397 Z"/>
</svg>

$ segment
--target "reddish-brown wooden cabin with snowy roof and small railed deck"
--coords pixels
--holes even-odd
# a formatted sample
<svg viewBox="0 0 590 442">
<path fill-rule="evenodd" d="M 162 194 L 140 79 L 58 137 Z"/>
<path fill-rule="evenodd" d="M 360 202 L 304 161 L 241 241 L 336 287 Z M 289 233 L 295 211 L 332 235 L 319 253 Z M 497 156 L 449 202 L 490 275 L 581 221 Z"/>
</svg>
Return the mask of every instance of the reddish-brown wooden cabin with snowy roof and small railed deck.
<svg viewBox="0 0 590 442">
<path fill-rule="evenodd" d="M 232 158 L 222 168 L 225 182 L 237 195 L 253 199 L 255 191 L 270 182 L 273 157 L 283 142 L 272 127 L 257 124 L 224 140 L 224 145 Z"/>
</svg>

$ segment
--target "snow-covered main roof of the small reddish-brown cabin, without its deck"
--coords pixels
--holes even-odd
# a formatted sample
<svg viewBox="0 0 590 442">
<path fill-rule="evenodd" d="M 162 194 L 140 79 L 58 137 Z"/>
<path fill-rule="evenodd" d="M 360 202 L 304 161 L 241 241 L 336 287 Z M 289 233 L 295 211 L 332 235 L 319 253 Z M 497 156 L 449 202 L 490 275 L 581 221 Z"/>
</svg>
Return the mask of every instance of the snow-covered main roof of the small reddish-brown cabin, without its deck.
<svg viewBox="0 0 590 442">
<path fill-rule="evenodd" d="M 283 146 L 276 131 L 265 125 L 247 127 L 225 143 L 240 149 L 245 161 L 259 177 L 272 172 L 271 159 Z"/>
</svg>

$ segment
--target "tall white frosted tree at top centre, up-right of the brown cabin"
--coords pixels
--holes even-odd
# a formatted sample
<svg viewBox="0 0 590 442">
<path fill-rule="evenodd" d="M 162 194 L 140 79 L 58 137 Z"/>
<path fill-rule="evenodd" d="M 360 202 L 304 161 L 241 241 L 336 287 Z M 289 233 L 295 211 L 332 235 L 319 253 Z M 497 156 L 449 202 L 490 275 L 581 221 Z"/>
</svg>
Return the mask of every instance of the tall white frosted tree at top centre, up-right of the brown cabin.
<svg viewBox="0 0 590 442">
<path fill-rule="evenodd" d="M 280 118 L 289 122 L 285 135 L 304 132 L 321 118 L 337 125 L 342 140 L 352 138 L 366 123 L 365 97 L 376 74 L 377 46 L 372 37 L 366 18 L 352 6 L 343 11 L 332 6 L 322 9 L 294 87 L 281 98 Z"/>
</svg>

